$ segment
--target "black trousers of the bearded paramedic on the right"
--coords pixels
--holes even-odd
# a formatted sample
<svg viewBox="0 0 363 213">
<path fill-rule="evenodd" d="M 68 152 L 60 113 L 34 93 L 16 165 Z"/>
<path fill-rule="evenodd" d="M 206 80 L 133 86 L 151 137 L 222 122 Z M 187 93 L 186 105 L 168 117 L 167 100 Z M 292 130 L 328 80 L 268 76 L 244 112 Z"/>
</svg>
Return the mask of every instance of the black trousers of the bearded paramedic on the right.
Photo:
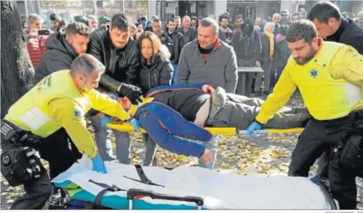
<svg viewBox="0 0 363 213">
<path fill-rule="evenodd" d="M 307 177 L 310 167 L 324 151 L 330 151 L 328 180 L 332 196 L 339 202 L 342 210 L 355 210 L 357 207 L 357 173 L 341 166 L 332 149 L 348 131 L 355 128 L 353 122 L 363 120 L 363 113 L 350 113 L 344 118 L 319 121 L 311 119 L 292 153 L 289 176 Z"/>
</svg>

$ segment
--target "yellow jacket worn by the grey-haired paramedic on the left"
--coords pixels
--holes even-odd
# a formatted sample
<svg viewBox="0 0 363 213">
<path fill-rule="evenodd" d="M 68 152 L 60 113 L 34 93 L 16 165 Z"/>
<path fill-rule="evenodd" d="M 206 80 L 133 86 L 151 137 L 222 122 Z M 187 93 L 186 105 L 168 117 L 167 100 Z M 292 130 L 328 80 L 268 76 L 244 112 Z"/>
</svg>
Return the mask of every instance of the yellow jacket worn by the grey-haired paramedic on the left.
<svg viewBox="0 0 363 213">
<path fill-rule="evenodd" d="M 64 70 L 44 77 L 10 107 L 5 119 L 44 138 L 63 127 L 78 150 L 93 158 L 97 150 L 84 117 L 91 108 L 120 120 L 130 118 L 121 104 L 108 95 L 95 89 L 81 92 L 70 71 Z"/>
</svg>

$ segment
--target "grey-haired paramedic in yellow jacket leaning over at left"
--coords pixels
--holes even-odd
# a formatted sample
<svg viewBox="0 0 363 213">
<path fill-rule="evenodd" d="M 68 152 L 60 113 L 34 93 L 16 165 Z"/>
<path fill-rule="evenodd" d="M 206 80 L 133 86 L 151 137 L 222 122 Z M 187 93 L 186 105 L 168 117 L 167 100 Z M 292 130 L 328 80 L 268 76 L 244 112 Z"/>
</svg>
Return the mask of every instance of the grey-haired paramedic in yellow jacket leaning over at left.
<svg viewBox="0 0 363 213">
<path fill-rule="evenodd" d="M 10 107 L 3 120 L 3 123 L 20 131 L 30 131 L 31 135 L 40 136 L 40 141 L 31 147 L 49 162 L 51 170 L 56 169 L 53 177 L 65 172 L 77 160 L 69 149 L 67 137 L 61 137 L 59 131 L 65 131 L 78 150 L 92 159 L 94 171 L 107 173 L 92 135 L 87 130 L 84 115 L 93 108 L 120 120 L 132 118 L 119 102 L 94 89 L 99 85 L 104 71 L 103 64 L 92 55 L 78 56 L 71 64 L 70 71 L 58 71 L 44 77 Z M 134 121 L 131 123 L 137 128 Z M 12 145 L 11 140 L 1 140 L 3 152 L 13 149 Z M 39 178 L 24 183 L 24 189 L 26 194 L 15 201 L 12 209 L 41 209 L 51 192 L 46 169 L 42 167 Z"/>
</svg>

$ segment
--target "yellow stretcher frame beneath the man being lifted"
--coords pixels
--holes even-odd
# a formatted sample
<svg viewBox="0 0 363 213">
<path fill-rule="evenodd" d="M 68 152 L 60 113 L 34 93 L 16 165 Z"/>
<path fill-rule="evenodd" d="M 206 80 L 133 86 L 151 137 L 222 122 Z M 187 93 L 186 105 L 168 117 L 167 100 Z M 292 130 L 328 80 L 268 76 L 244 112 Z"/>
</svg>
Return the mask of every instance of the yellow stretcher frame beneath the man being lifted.
<svg viewBox="0 0 363 213">
<path fill-rule="evenodd" d="M 134 127 L 130 124 L 107 124 L 110 129 L 116 129 L 119 131 L 133 132 Z M 246 134 L 246 130 L 237 130 L 235 127 L 205 127 L 205 130 L 216 136 L 235 136 Z M 255 131 L 255 133 L 301 133 L 304 128 L 293 128 L 293 129 L 261 129 Z M 140 128 L 140 133 L 146 133 L 145 129 Z"/>
</svg>

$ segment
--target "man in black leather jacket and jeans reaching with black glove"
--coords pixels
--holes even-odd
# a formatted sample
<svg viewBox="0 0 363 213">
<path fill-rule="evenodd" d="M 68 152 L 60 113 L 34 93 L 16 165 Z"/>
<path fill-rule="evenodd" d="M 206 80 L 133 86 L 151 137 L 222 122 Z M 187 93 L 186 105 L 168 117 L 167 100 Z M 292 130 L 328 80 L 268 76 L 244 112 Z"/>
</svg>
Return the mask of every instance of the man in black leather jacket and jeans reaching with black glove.
<svg viewBox="0 0 363 213">
<path fill-rule="evenodd" d="M 101 76 L 100 86 L 107 91 L 118 91 L 127 96 L 131 102 L 141 102 L 141 89 L 133 86 L 136 83 L 137 72 L 140 66 L 140 50 L 137 41 L 130 38 L 132 24 L 124 14 L 112 17 L 111 26 L 104 26 L 94 30 L 90 35 L 87 53 L 94 55 L 105 65 L 105 74 Z M 118 85 L 115 86 L 112 85 Z M 103 160 L 115 160 L 112 154 L 110 129 L 105 126 L 110 118 L 98 113 L 92 116 L 96 145 Z M 117 160 L 129 164 L 130 136 L 127 132 L 114 130 L 117 144 Z"/>
</svg>

